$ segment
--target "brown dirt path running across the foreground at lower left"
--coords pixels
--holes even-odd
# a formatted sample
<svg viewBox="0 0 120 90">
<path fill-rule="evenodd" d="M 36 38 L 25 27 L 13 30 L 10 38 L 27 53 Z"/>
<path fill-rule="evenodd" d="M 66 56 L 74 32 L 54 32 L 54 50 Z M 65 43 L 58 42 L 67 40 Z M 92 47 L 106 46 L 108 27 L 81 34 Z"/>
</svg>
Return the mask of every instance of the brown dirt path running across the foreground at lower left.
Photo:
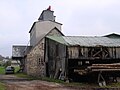
<svg viewBox="0 0 120 90">
<path fill-rule="evenodd" d="M 41 80 L 28 81 L 14 75 L 0 75 L 0 81 L 6 83 L 7 90 L 78 90 L 54 82 Z"/>
</svg>

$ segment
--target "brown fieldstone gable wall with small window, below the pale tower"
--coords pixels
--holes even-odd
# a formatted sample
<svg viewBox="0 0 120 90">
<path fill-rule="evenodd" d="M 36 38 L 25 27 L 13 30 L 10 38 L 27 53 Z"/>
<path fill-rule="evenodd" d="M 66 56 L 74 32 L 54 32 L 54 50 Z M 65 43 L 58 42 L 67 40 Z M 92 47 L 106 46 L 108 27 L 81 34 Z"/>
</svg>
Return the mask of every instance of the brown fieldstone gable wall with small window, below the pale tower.
<svg viewBox="0 0 120 90">
<path fill-rule="evenodd" d="M 62 35 L 58 30 L 53 29 L 48 35 Z M 32 50 L 27 54 L 26 58 L 26 71 L 28 75 L 32 76 L 46 76 L 45 69 L 45 38 L 43 38 Z"/>
</svg>

